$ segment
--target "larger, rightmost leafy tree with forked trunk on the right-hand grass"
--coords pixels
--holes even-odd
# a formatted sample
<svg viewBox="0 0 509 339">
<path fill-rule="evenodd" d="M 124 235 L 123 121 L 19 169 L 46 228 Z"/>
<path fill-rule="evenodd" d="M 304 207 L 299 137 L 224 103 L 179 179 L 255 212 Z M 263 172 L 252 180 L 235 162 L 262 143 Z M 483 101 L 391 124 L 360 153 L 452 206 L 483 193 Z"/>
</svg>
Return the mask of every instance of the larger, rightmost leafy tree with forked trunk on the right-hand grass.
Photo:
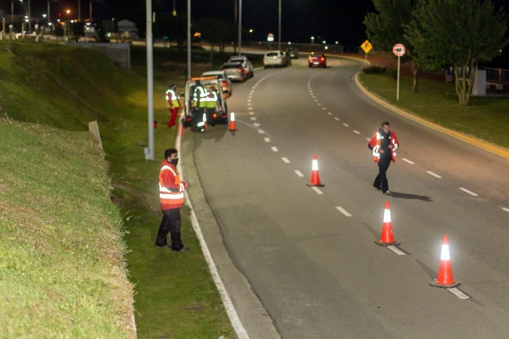
<svg viewBox="0 0 509 339">
<path fill-rule="evenodd" d="M 462 105 L 470 100 L 478 63 L 493 60 L 508 42 L 507 16 L 501 8 L 495 12 L 491 0 L 422 0 L 405 31 L 421 63 L 453 66 Z"/>
</svg>

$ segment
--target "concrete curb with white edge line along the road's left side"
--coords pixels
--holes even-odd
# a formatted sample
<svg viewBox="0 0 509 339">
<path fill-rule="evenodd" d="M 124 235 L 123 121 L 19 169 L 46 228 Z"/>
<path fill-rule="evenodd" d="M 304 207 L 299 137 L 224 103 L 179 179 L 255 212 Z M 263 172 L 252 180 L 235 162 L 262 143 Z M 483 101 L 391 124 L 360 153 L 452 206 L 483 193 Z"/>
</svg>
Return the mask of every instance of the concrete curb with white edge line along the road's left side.
<svg viewBox="0 0 509 339">
<path fill-rule="evenodd" d="M 179 172 L 182 178 L 185 173 L 186 180 L 196 181 L 189 192 L 186 191 L 186 203 L 191 210 L 194 232 L 200 241 L 210 274 L 232 326 L 239 338 L 249 338 L 249 336 L 280 338 L 265 306 L 252 290 L 246 277 L 234 265 L 224 246 L 221 230 L 199 182 L 193 156 L 193 135 L 185 139 L 182 136 L 182 125 L 179 124 L 176 139 L 176 149 L 181 159 Z"/>
</svg>

